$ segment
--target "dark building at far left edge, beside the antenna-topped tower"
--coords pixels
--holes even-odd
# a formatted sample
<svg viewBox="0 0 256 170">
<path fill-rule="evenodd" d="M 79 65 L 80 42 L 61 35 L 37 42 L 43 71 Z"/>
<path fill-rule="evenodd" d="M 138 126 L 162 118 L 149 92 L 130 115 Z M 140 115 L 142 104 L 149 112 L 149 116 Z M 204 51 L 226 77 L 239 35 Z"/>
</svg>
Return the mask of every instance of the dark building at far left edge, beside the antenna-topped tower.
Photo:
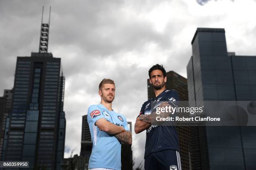
<svg viewBox="0 0 256 170">
<path fill-rule="evenodd" d="M 13 90 L 4 90 L 3 97 L 0 97 L 0 160 L 3 149 L 5 122 L 10 112 L 12 97 Z"/>
</svg>

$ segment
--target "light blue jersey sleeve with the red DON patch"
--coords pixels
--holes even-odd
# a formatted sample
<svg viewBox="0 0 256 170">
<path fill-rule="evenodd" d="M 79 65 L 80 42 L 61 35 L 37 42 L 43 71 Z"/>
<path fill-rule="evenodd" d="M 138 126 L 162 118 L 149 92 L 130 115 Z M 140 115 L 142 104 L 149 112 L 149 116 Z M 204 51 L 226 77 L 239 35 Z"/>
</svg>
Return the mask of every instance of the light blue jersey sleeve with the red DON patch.
<svg viewBox="0 0 256 170">
<path fill-rule="evenodd" d="M 104 118 L 104 115 L 102 113 L 102 109 L 97 106 L 97 105 L 91 105 L 88 108 L 88 112 L 87 112 L 87 121 L 89 122 L 93 122 L 93 124 L 96 123 L 97 120 Z"/>
</svg>

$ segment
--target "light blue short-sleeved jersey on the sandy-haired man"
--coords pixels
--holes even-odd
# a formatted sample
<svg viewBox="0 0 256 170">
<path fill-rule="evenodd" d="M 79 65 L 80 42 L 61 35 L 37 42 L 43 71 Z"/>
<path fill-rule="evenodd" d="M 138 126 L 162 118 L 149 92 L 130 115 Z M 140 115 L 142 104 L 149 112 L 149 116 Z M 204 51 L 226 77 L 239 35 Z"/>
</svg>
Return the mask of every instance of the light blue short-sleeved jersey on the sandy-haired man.
<svg viewBox="0 0 256 170">
<path fill-rule="evenodd" d="M 114 135 L 109 135 L 99 130 L 95 122 L 101 118 L 130 130 L 126 118 L 114 111 L 109 111 L 105 106 L 91 105 L 88 109 L 87 121 L 92 137 L 92 153 L 88 168 L 108 168 L 121 170 L 121 143 Z"/>
</svg>

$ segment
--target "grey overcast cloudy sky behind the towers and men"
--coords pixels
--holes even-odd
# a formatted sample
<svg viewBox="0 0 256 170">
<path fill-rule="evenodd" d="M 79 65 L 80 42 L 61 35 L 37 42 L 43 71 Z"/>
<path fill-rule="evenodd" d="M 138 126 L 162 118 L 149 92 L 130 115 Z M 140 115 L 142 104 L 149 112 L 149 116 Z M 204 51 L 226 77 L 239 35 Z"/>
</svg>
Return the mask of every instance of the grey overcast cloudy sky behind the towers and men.
<svg viewBox="0 0 256 170">
<path fill-rule="evenodd" d="M 98 84 L 116 84 L 113 109 L 135 123 L 147 100 L 148 69 L 163 64 L 187 77 L 198 27 L 225 28 L 229 52 L 256 55 L 256 0 L 0 0 L 0 91 L 13 87 L 17 56 L 38 52 L 41 10 L 49 52 L 66 77 L 65 157 L 80 152 L 82 115 L 98 104 Z M 0 92 L 1 93 L 1 92 Z M 133 158 L 143 161 L 146 134 L 133 131 Z"/>
</svg>

